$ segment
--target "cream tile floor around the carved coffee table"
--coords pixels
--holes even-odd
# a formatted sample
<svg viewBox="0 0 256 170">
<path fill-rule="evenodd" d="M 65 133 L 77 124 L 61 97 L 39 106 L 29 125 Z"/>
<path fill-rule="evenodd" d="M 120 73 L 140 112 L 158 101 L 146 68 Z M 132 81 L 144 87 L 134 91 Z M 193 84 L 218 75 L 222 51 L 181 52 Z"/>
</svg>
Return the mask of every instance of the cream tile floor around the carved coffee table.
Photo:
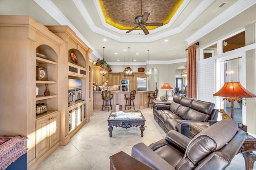
<svg viewBox="0 0 256 170">
<path fill-rule="evenodd" d="M 39 166 L 38 170 L 109 170 L 109 157 L 121 150 L 131 155 L 132 146 L 143 142 L 150 145 L 165 137 L 155 122 L 152 109 L 142 109 L 146 122 L 144 137 L 139 127 L 124 129 L 114 127 L 109 137 L 107 119 L 110 111 L 94 110 L 94 116 L 71 139 L 59 147 Z M 244 158 L 238 154 L 226 170 L 244 170 Z M 254 164 L 256 170 L 256 164 Z M 209 169 L 210 170 L 210 169 Z"/>
</svg>

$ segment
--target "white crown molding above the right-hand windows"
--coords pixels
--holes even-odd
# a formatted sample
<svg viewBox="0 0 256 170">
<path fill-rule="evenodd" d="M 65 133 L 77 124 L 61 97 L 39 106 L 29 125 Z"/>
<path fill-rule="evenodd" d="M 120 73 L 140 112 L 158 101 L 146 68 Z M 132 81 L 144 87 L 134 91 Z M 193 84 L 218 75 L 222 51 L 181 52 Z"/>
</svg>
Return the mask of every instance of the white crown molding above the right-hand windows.
<svg viewBox="0 0 256 170">
<path fill-rule="evenodd" d="M 244 10 L 256 4 L 255 0 L 238 0 L 232 6 L 230 6 L 227 10 L 222 12 L 212 21 L 208 22 L 204 27 L 196 31 L 193 35 L 186 39 L 188 45 L 196 42 L 198 39 L 203 37 L 204 35 L 210 33 L 212 30 L 216 29 L 220 25 L 224 24 L 226 21 L 231 20 Z"/>
</svg>

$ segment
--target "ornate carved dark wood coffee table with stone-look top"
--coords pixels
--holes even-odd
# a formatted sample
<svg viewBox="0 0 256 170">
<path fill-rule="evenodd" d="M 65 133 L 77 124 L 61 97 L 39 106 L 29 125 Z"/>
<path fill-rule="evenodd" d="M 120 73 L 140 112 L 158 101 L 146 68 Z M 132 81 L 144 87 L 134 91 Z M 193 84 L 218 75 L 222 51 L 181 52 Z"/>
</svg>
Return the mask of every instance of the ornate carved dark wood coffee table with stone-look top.
<svg viewBox="0 0 256 170">
<path fill-rule="evenodd" d="M 123 127 L 123 128 L 130 128 L 130 127 L 137 127 L 140 126 L 140 135 L 143 137 L 143 131 L 145 130 L 145 118 L 140 112 L 140 110 L 130 110 L 124 111 L 124 115 L 122 116 L 115 116 L 116 111 L 111 111 L 108 117 L 108 131 L 109 137 L 112 137 L 113 127 Z"/>
</svg>

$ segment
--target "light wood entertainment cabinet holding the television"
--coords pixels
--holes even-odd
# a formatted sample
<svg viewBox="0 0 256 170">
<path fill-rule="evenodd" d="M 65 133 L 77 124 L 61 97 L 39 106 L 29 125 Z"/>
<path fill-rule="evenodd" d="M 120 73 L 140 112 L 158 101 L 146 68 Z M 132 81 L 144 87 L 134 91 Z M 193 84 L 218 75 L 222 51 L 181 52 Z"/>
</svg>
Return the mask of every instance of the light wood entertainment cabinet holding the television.
<svg viewBox="0 0 256 170">
<path fill-rule="evenodd" d="M 76 33 L 66 25 L 46 26 L 52 33 L 64 40 L 65 43 L 61 46 L 60 60 L 60 145 L 65 146 L 69 143 L 70 138 L 88 121 L 93 115 L 92 107 L 92 61 L 90 61 L 90 49 Z M 76 56 L 77 62 L 73 61 L 71 54 Z M 72 110 L 74 106 L 70 106 L 68 102 L 68 79 L 79 79 L 82 82 L 82 100 L 75 102 L 79 105 L 77 111 L 82 111 L 82 116 L 76 117 Z M 82 107 L 82 109 L 80 109 Z M 71 112 L 70 112 L 71 111 Z M 87 114 L 88 113 L 88 114 Z M 72 128 L 70 129 L 70 115 Z M 82 118 L 80 120 L 80 118 Z M 78 120 L 79 123 L 73 123 L 73 120 Z M 74 125 L 74 126 L 73 126 Z"/>
</svg>

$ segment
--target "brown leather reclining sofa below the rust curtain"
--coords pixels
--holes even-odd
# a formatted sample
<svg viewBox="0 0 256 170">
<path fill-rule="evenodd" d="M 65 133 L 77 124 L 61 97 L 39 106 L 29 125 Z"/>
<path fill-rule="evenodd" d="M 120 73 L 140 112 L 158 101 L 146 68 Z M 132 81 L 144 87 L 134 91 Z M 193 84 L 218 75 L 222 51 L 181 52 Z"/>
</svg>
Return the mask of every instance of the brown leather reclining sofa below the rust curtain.
<svg viewBox="0 0 256 170">
<path fill-rule="evenodd" d="M 214 107 L 214 103 L 174 96 L 171 104 L 156 104 L 154 119 L 165 133 L 175 130 L 188 137 L 188 123 L 217 120 L 219 111 Z"/>
</svg>

